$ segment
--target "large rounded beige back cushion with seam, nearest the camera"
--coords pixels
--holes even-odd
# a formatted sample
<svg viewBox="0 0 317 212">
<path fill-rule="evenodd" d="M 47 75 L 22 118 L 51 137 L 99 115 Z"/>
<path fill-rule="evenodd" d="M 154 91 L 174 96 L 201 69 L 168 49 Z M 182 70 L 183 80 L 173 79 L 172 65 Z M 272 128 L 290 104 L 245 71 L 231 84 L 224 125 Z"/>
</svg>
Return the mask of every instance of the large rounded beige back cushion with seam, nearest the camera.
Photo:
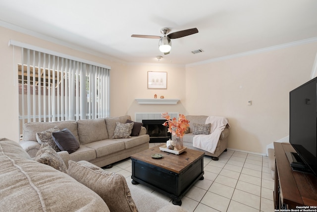
<svg viewBox="0 0 317 212">
<path fill-rule="evenodd" d="M 0 141 L 1 211 L 109 212 L 95 192 L 51 166 L 24 158 L 23 151 L 12 141 Z"/>
</svg>

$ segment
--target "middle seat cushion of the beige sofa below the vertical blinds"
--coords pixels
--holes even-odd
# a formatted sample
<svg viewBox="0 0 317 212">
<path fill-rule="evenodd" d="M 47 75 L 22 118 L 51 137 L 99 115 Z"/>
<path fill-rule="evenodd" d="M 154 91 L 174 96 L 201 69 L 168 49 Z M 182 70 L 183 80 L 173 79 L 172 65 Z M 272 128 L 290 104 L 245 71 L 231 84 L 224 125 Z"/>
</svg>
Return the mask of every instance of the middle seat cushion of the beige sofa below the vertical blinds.
<svg viewBox="0 0 317 212">
<path fill-rule="evenodd" d="M 102 140 L 95 141 L 93 143 L 85 144 L 85 147 L 92 148 L 96 151 L 97 158 L 109 155 L 111 153 L 116 153 L 124 150 L 124 142 L 119 142 L 117 140 Z"/>
</svg>

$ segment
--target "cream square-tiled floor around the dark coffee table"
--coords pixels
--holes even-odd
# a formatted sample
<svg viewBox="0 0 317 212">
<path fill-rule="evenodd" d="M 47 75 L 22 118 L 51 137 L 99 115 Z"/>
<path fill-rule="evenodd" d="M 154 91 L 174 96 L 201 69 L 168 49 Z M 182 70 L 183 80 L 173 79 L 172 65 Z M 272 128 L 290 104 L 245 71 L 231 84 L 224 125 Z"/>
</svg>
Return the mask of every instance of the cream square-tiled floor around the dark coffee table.
<svg viewBox="0 0 317 212">
<path fill-rule="evenodd" d="M 161 144 L 151 143 L 150 147 L 157 145 Z M 139 186 L 171 202 L 144 185 L 131 184 L 131 159 L 116 162 L 107 170 L 122 174 L 129 186 Z M 181 199 L 181 207 L 188 212 L 274 211 L 274 180 L 267 157 L 228 150 L 218 161 L 205 156 L 204 171 L 204 180 L 198 181 Z"/>
</svg>

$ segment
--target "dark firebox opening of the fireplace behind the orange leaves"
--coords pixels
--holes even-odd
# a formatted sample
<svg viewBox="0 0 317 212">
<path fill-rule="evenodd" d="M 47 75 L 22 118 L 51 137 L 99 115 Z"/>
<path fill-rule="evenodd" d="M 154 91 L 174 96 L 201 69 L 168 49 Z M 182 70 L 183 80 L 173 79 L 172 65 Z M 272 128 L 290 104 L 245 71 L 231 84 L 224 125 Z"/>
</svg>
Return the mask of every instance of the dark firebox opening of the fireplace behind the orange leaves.
<svg viewBox="0 0 317 212">
<path fill-rule="evenodd" d="M 165 121 L 165 119 L 142 120 L 143 126 L 147 129 L 147 134 L 150 136 L 150 143 L 165 143 L 168 139 L 171 139 L 167 127 L 162 125 Z"/>
</svg>

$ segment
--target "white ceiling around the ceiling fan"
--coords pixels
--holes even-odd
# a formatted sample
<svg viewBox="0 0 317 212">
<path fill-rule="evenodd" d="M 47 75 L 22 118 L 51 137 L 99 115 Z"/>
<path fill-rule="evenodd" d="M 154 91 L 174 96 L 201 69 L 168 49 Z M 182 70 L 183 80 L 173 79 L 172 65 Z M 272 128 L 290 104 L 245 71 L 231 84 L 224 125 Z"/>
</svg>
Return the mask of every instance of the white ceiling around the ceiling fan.
<svg viewBox="0 0 317 212">
<path fill-rule="evenodd" d="M 317 38 L 317 0 L 0 0 L 0 20 L 106 58 L 190 64 Z M 158 39 L 131 37 L 163 27 L 199 33 L 173 39 L 167 55 Z"/>
</svg>

